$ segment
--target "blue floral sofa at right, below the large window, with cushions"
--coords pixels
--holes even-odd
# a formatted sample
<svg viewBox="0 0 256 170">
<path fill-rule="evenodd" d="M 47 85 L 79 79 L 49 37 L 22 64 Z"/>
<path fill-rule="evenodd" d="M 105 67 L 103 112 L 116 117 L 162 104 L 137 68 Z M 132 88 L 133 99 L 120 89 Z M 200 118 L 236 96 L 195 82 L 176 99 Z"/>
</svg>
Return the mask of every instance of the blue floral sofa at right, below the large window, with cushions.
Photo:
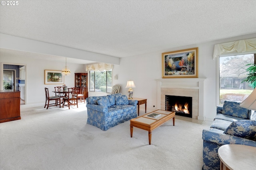
<svg viewBox="0 0 256 170">
<path fill-rule="evenodd" d="M 225 101 L 209 130 L 202 132 L 203 170 L 220 170 L 218 149 L 222 145 L 240 144 L 256 147 L 256 111 Z"/>
</svg>

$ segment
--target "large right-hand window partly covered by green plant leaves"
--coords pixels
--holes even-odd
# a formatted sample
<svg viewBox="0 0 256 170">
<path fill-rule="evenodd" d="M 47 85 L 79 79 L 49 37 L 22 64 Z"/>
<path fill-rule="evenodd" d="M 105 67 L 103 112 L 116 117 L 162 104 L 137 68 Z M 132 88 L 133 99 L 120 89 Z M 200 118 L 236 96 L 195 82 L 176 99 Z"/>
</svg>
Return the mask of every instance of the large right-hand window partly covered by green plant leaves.
<svg viewBox="0 0 256 170">
<path fill-rule="evenodd" d="M 246 64 L 255 64 L 256 54 L 219 57 L 219 98 L 218 104 L 225 100 L 242 102 L 251 94 L 250 83 L 241 83 L 248 75 Z"/>
</svg>

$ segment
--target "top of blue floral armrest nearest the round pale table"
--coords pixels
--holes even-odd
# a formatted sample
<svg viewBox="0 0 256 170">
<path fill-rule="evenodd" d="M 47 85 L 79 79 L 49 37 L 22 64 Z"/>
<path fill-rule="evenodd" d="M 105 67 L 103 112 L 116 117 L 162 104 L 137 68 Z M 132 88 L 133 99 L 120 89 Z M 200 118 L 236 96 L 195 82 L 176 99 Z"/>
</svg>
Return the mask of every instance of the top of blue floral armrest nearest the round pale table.
<svg viewBox="0 0 256 170">
<path fill-rule="evenodd" d="M 210 130 L 203 130 L 202 139 L 210 143 L 215 143 L 217 145 L 227 145 L 227 144 L 240 144 L 256 147 L 256 141 L 249 139 L 244 139 L 232 135 L 227 135 L 224 133 L 218 133 Z"/>
</svg>

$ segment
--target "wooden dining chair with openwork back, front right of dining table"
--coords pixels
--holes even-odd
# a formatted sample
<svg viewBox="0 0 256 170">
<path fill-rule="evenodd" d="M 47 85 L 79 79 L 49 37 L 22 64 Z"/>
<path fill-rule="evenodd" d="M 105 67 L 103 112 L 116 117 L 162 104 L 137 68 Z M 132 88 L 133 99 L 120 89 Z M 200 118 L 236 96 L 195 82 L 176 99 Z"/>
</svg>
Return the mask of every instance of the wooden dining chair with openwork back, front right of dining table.
<svg viewBox="0 0 256 170">
<path fill-rule="evenodd" d="M 62 107 L 68 106 L 68 109 L 70 109 L 70 105 L 77 106 L 78 108 L 78 88 L 68 88 L 68 94 L 63 98 L 63 104 Z M 65 104 L 65 103 L 68 104 Z M 74 103 L 73 103 L 74 102 Z"/>
</svg>

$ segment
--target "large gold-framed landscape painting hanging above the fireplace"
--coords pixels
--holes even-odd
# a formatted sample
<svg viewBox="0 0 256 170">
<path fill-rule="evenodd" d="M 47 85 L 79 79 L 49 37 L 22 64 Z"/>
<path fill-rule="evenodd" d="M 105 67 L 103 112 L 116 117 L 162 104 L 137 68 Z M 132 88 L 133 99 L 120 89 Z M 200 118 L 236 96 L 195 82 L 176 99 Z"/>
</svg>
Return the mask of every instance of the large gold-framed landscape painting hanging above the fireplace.
<svg viewBox="0 0 256 170">
<path fill-rule="evenodd" d="M 162 78 L 198 78 L 198 47 L 162 53 Z"/>
</svg>

